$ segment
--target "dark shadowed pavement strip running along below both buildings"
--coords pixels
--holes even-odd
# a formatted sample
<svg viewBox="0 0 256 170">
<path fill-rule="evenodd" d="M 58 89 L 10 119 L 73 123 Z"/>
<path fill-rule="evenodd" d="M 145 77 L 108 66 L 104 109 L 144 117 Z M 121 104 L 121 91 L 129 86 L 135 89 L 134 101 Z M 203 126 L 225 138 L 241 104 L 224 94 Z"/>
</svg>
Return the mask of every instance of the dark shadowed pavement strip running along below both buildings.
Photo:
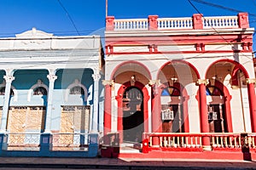
<svg viewBox="0 0 256 170">
<path fill-rule="evenodd" d="M 137 158 L 0 157 L 0 167 L 77 169 L 256 169 L 255 161 Z"/>
</svg>

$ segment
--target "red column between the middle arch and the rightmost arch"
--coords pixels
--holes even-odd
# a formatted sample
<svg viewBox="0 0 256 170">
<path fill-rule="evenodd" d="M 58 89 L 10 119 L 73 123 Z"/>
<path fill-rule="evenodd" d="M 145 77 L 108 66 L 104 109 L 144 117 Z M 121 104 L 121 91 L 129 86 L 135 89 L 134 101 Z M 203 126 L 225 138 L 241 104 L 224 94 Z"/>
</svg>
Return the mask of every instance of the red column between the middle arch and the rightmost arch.
<svg viewBox="0 0 256 170">
<path fill-rule="evenodd" d="M 198 80 L 199 84 L 199 101 L 200 101 L 200 122 L 201 122 L 201 133 L 209 133 L 208 125 L 208 109 L 207 109 L 207 83 L 208 80 Z M 202 145 L 204 150 L 210 150 L 210 138 L 203 137 Z"/>
</svg>

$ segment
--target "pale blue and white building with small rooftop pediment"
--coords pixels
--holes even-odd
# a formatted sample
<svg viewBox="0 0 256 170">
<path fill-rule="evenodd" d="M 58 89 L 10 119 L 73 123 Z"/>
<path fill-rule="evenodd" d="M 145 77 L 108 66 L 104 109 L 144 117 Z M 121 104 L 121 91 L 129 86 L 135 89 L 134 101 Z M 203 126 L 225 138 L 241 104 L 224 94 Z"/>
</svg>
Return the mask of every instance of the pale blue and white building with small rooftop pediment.
<svg viewBox="0 0 256 170">
<path fill-rule="evenodd" d="M 41 133 L 52 134 L 53 148 L 86 145 L 86 134 L 102 133 L 103 57 L 99 36 L 32 28 L 1 38 L 0 131 L 9 148 L 37 147 Z"/>
</svg>

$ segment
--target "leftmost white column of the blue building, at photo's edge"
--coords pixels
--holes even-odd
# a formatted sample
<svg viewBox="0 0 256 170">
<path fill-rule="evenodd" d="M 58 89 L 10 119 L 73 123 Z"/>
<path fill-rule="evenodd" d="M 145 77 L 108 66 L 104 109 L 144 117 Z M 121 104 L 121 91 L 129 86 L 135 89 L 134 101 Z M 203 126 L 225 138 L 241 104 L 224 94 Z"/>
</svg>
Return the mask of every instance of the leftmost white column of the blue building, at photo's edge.
<svg viewBox="0 0 256 170">
<path fill-rule="evenodd" d="M 4 91 L 4 103 L 3 103 L 3 113 L 1 119 L 1 132 L 6 132 L 7 125 L 7 117 L 9 111 L 9 99 L 10 99 L 10 91 L 11 91 L 11 83 L 15 80 L 13 76 L 4 76 L 5 79 L 5 91 Z"/>
</svg>

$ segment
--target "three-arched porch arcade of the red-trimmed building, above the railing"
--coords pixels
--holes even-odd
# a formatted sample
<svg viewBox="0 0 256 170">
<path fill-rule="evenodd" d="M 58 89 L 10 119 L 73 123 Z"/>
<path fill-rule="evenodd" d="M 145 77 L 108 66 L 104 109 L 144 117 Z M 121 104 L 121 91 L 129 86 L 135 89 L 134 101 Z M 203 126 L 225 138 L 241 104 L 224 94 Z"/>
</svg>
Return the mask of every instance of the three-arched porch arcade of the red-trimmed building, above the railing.
<svg viewBox="0 0 256 170">
<path fill-rule="evenodd" d="M 252 114 L 254 82 L 248 81 L 247 71 L 236 61 L 212 63 L 205 79 L 183 60 L 163 65 L 156 80 L 152 80 L 152 74 L 145 65 L 128 62 L 113 71 L 112 80 L 104 82 L 108 101 L 105 102 L 104 133 L 116 129 L 121 143 L 141 142 L 143 133 L 151 132 L 233 133 L 233 125 L 240 119 L 243 120 L 241 127 L 235 131 L 247 131 L 244 123 L 250 119 L 244 116 L 241 107 L 245 104 L 251 114 L 251 131 L 256 132 L 253 123 L 256 117 Z M 245 93 L 248 101 L 241 101 Z M 117 110 L 109 102 L 111 96 L 115 96 Z M 232 96 L 236 99 L 232 100 Z M 117 115 L 116 124 L 109 113 Z"/>
</svg>

